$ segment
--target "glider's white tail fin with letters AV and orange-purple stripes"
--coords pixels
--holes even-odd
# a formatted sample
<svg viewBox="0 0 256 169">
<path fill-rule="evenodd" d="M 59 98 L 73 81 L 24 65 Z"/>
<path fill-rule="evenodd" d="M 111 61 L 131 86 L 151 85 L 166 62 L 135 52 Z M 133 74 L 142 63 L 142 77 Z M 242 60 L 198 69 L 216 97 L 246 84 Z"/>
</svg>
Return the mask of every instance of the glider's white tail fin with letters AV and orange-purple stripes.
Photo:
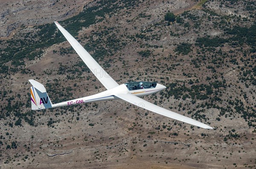
<svg viewBox="0 0 256 169">
<path fill-rule="evenodd" d="M 30 79 L 32 87 L 30 87 L 31 93 L 31 109 L 41 110 L 52 108 L 52 102 L 46 92 L 44 85 L 41 83 Z"/>
</svg>

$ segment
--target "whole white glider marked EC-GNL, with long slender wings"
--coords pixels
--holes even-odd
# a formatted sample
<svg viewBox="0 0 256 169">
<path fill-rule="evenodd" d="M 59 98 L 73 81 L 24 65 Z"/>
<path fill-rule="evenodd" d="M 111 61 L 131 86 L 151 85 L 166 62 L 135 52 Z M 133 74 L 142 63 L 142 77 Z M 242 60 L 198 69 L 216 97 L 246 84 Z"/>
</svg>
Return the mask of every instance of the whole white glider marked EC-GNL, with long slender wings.
<svg viewBox="0 0 256 169">
<path fill-rule="evenodd" d="M 166 89 L 166 87 L 163 85 L 155 82 L 129 82 L 122 85 L 117 84 L 116 81 L 114 81 L 111 76 L 109 76 L 109 74 L 93 59 L 92 56 L 90 56 L 90 54 L 79 44 L 79 42 L 74 37 L 72 37 L 58 22 L 55 22 L 55 24 L 70 43 L 70 45 L 74 48 L 76 53 L 87 65 L 87 67 L 92 71 L 96 78 L 99 79 L 99 81 L 107 90 L 92 96 L 52 104 L 44 85 L 30 79 L 29 82 L 32 85 L 30 88 L 32 110 L 42 110 L 47 108 L 70 106 L 95 101 L 122 99 L 128 101 L 131 104 L 134 104 L 135 106 L 142 107 L 146 110 L 164 115 L 169 118 L 173 118 L 178 121 L 202 127 L 204 129 L 213 129 L 207 124 L 201 123 L 192 118 L 188 118 L 170 110 L 166 110 L 163 107 L 159 107 L 140 98 L 141 96 L 150 95 Z"/>
</svg>

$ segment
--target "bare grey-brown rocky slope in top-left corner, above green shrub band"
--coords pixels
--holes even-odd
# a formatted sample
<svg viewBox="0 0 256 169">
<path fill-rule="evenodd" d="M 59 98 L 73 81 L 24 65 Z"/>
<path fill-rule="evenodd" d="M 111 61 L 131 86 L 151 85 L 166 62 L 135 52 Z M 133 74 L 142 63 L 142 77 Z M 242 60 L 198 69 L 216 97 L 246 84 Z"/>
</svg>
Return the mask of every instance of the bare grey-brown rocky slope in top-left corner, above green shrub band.
<svg viewBox="0 0 256 169">
<path fill-rule="evenodd" d="M 17 30 L 64 20 L 82 11 L 91 0 L 8 0 L 0 2 L 0 38 L 10 39 Z"/>
</svg>

